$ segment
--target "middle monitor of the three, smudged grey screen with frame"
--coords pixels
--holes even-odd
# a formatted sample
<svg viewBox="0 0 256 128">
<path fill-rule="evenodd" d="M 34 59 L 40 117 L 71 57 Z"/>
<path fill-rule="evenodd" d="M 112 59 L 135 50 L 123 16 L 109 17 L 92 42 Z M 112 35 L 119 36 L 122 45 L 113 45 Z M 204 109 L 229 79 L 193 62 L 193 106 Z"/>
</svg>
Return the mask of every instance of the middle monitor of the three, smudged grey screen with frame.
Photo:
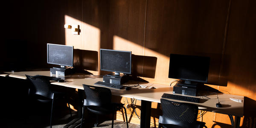
<svg viewBox="0 0 256 128">
<path fill-rule="evenodd" d="M 131 51 L 100 49 L 100 68 L 104 71 L 131 74 Z"/>
</svg>

